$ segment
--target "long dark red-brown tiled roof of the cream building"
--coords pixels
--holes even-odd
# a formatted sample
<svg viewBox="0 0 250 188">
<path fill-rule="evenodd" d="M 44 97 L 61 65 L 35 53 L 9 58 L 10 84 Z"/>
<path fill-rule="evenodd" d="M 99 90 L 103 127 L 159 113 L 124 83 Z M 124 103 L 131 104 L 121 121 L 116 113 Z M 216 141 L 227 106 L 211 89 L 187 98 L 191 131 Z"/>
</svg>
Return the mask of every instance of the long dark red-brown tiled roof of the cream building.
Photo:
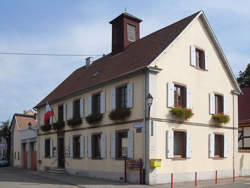
<svg viewBox="0 0 250 188">
<path fill-rule="evenodd" d="M 36 108 L 44 105 L 47 101 L 51 103 L 105 81 L 146 68 L 199 13 L 197 12 L 135 41 L 121 53 L 108 54 L 94 61 L 88 68 L 83 66 L 77 69 L 45 97 Z M 96 72 L 99 74 L 93 77 Z"/>
</svg>

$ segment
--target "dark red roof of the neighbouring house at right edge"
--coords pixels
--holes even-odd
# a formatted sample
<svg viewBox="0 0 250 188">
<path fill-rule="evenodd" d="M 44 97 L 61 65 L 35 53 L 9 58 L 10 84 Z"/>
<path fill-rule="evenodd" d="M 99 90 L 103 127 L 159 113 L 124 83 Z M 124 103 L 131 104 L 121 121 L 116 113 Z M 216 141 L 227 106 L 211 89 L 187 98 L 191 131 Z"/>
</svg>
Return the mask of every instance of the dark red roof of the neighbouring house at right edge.
<svg viewBox="0 0 250 188">
<path fill-rule="evenodd" d="M 243 95 L 239 96 L 239 124 L 250 123 L 250 88 L 242 88 Z"/>
</svg>

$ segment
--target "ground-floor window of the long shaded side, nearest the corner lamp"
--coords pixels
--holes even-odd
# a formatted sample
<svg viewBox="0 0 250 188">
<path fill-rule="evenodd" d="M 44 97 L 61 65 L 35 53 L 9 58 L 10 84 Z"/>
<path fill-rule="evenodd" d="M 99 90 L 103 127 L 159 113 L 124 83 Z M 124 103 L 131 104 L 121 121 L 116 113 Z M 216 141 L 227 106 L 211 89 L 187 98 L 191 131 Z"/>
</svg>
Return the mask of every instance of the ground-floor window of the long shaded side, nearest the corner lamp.
<svg viewBox="0 0 250 188">
<path fill-rule="evenodd" d="M 117 158 L 128 157 L 128 131 L 117 133 Z"/>
</svg>

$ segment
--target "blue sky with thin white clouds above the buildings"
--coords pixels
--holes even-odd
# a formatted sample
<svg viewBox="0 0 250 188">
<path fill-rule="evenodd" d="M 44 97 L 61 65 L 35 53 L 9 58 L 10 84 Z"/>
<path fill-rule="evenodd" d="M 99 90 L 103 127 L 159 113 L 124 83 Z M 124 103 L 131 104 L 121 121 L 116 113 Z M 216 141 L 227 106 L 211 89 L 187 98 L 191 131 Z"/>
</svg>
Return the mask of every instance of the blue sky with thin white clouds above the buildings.
<svg viewBox="0 0 250 188">
<path fill-rule="evenodd" d="M 111 51 L 109 21 L 126 11 L 141 37 L 199 10 L 235 74 L 250 63 L 249 0 L 1 0 L 0 52 L 100 55 Z M 0 122 L 32 109 L 85 57 L 0 55 Z"/>
</svg>

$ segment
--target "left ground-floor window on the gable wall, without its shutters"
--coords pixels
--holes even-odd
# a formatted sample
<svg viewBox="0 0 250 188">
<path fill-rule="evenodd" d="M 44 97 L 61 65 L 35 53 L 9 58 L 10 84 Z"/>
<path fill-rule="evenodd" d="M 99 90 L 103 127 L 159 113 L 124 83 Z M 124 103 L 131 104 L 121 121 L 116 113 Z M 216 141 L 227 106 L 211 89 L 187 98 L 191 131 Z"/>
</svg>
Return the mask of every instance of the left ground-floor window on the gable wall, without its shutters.
<svg viewBox="0 0 250 188">
<path fill-rule="evenodd" d="M 174 157 L 186 157 L 186 133 L 174 131 Z"/>
</svg>

